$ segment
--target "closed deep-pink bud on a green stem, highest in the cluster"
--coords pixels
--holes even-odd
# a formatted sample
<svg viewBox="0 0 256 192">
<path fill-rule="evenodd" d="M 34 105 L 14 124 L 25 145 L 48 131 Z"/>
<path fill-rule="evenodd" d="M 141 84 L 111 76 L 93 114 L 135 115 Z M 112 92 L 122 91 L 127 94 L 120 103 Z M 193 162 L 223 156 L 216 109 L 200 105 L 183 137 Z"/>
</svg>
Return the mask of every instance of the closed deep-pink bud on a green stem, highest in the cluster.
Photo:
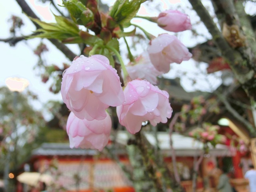
<svg viewBox="0 0 256 192">
<path fill-rule="evenodd" d="M 180 32 L 191 30 L 190 18 L 178 10 L 166 10 L 158 15 L 157 24 L 166 31 Z"/>
</svg>

